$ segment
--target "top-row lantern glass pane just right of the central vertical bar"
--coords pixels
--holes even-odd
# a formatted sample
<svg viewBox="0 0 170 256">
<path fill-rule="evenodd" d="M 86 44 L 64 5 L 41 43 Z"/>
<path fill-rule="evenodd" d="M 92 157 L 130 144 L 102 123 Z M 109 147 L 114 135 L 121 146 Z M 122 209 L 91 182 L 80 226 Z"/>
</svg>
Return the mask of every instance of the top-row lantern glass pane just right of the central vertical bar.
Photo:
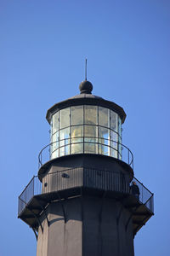
<svg viewBox="0 0 170 256">
<path fill-rule="evenodd" d="M 84 106 L 84 124 L 97 125 L 97 106 L 85 105 Z"/>
</svg>

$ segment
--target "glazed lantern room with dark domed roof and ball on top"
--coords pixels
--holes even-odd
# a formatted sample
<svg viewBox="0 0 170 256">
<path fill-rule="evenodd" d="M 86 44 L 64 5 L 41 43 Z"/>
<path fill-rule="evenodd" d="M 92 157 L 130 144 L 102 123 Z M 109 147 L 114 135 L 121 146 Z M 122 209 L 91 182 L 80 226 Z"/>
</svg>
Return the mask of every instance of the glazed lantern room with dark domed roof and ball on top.
<svg viewBox="0 0 170 256">
<path fill-rule="evenodd" d="M 103 154 L 122 160 L 126 113 L 116 103 L 94 96 L 89 81 L 82 81 L 79 89 L 79 95 L 48 109 L 50 159 L 68 154 Z"/>
</svg>

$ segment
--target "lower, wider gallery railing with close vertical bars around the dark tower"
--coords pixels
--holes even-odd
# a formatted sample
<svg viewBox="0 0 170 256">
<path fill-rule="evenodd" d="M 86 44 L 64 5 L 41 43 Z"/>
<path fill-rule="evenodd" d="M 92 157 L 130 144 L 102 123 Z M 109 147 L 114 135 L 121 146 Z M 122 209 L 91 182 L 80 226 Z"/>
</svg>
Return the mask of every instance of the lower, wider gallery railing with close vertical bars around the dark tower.
<svg viewBox="0 0 170 256">
<path fill-rule="evenodd" d="M 139 187 L 139 195 L 134 196 L 151 212 L 154 212 L 153 194 L 135 177 L 133 177 L 132 182 L 135 182 Z M 48 173 L 44 177 L 34 176 L 19 196 L 18 213 L 20 215 L 34 195 L 48 194 L 82 186 L 91 189 L 103 189 L 105 191 L 132 194 L 132 182 L 129 183 L 129 176 L 119 172 L 82 167 Z"/>
</svg>

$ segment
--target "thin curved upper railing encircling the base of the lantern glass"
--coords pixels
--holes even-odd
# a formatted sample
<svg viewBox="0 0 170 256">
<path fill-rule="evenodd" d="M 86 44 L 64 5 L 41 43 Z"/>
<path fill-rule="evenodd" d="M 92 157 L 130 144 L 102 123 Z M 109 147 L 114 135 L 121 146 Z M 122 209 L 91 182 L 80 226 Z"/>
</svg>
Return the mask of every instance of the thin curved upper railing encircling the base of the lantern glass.
<svg viewBox="0 0 170 256">
<path fill-rule="evenodd" d="M 80 146 L 77 150 L 75 147 Z M 87 150 L 88 148 L 88 150 Z M 48 160 L 68 154 L 104 154 L 126 162 L 133 168 L 133 153 L 120 142 L 103 137 L 70 137 L 59 139 L 42 148 L 38 155 L 38 168 Z"/>
</svg>

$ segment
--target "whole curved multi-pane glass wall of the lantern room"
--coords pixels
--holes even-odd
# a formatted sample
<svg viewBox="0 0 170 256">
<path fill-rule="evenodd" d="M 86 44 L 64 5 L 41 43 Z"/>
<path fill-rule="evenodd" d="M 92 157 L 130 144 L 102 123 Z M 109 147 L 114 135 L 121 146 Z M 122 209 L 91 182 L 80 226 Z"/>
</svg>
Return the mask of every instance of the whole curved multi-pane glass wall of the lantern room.
<svg viewBox="0 0 170 256">
<path fill-rule="evenodd" d="M 64 108 L 54 113 L 51 125 L 51 159 L 81 153 L 122 159 L 122 120 L 109 108 Z"/>
</svg>

